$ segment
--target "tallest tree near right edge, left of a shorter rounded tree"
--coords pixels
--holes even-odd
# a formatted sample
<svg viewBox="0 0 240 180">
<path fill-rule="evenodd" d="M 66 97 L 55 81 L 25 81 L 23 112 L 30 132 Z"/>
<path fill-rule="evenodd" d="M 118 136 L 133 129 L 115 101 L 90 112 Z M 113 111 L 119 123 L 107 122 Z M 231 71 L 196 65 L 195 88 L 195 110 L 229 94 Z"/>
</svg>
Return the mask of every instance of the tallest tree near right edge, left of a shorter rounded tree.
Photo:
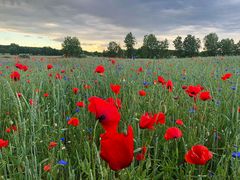
<svg viewBox="0 0 240 180">
<path fill-rule="evenodd" d="M 209 56 L 216 56 L 218 50 L 218 36 L 216 33 L 210 33 L 204 37 L 204 46 Z"/>
</svg>

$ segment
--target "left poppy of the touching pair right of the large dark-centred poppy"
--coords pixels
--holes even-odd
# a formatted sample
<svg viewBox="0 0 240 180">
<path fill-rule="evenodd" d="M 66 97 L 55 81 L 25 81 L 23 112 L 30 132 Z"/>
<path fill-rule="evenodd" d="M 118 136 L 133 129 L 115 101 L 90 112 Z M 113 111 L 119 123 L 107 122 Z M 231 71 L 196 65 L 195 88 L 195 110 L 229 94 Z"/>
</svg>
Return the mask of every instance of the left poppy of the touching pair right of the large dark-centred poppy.
<svg viewBox="0 0 240 180">
<path fill-rule="evenodd" d="M 156 122 L 156 119 L 153 118 L 151 114 L 148 114 L 148 112 L 146 112 L 140 118 L 139 127 L 141 129 L 150 129 L 150 130 L 152 130 L 152 129 L 154 129 L 155 122 Z"/>
</svg>

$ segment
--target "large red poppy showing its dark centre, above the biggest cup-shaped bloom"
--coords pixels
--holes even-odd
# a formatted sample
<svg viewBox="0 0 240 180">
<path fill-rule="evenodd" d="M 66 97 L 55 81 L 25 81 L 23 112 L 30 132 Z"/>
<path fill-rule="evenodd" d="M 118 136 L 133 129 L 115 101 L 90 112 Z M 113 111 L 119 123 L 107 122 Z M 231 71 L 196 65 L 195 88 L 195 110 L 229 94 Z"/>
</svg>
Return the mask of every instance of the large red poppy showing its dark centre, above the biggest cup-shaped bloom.
<svg viewBox="0 0 240 180">
<path fill-rule="evenodd" d="M 104 130 L 117 132 L 121 115 L 116 106 L 95 96 L 90 97 L 88 101 L 88 110 L 96 116 Z"/>
</svg>

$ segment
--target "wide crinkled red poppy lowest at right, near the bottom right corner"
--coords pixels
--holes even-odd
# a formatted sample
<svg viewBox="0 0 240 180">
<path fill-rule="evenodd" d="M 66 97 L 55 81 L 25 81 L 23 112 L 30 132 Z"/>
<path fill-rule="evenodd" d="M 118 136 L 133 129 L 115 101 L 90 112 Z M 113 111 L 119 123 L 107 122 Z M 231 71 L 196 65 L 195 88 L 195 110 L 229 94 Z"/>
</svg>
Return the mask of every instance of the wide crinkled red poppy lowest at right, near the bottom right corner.
<svg viewBox="0 0 240 180">
<path fill-rule="evenodd" d="M 205 165 L 213 154 L 208 150 L 206 146 L 195 145 L 185 154 L 185 160 L 189 164 Z"/>
</svg>

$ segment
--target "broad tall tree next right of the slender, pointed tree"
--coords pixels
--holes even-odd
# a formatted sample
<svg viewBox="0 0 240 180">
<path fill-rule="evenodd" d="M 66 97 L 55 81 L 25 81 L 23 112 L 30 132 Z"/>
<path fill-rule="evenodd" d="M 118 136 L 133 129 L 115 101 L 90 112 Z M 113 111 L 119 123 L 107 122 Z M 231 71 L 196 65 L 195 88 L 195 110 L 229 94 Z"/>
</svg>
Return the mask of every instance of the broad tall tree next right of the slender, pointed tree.
<svg viewBox="0 0 240 180">
<path fill-rule="evenodd" d="M 159 41 L 154 34 L 144 36 L 142 52 L 146 58 L 158 57 Z"/>
</svg>

